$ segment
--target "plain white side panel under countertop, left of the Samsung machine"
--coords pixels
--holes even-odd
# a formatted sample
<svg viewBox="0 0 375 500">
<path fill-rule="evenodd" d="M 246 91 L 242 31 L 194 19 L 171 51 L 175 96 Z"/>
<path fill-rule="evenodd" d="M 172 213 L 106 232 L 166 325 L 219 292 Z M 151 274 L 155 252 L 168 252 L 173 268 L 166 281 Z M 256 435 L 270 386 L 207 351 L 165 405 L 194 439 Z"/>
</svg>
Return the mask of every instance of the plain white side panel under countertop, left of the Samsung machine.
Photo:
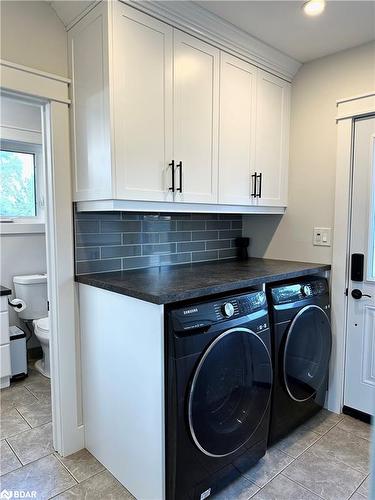
<svg viewBox="0 0 375 500">
<path fill-rule="evenodd" d="M 85 445 L 138 499 L 164 498 L 163 306 L 79 285 Z"/>
</svg>

